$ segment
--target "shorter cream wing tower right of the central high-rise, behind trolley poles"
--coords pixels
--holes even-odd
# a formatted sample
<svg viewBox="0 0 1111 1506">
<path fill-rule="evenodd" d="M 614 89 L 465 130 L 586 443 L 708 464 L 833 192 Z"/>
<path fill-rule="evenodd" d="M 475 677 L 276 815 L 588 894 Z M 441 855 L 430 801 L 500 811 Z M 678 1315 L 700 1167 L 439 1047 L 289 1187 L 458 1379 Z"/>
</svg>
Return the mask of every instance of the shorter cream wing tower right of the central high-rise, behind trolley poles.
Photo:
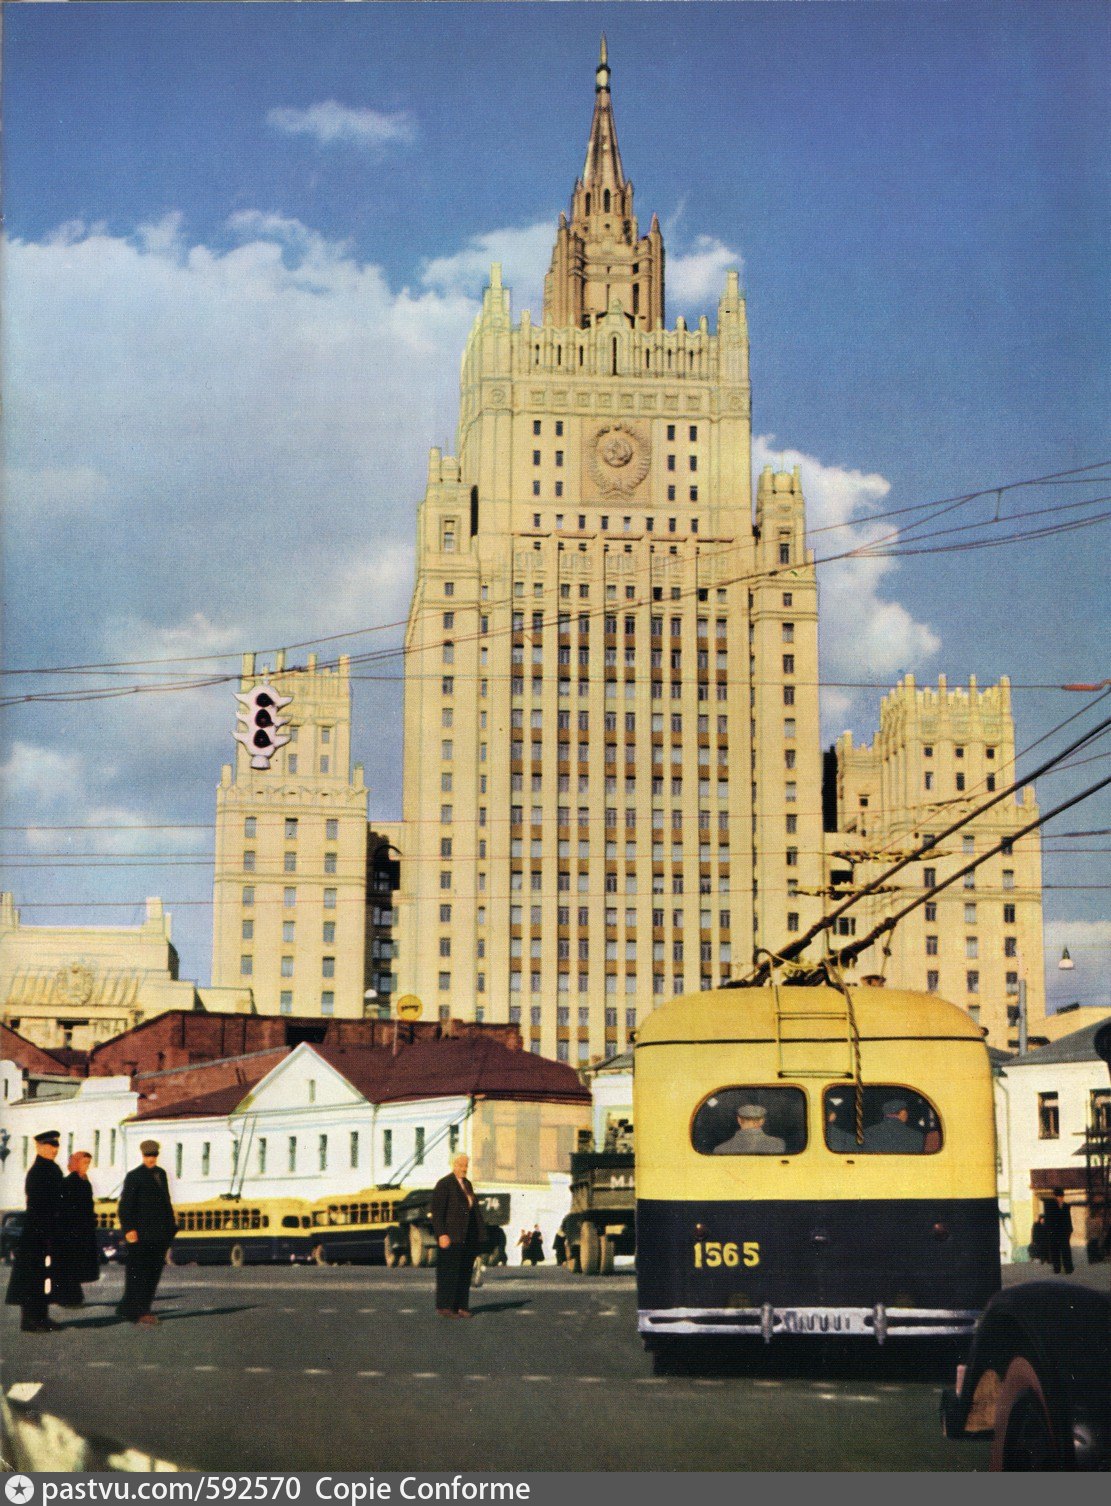
<svg viewBox="0 0 1111 1506">
<path fill-rule="evenodd" d="M 872 745 L 855 745 L 851 732 L 836 745 L 836 831 L 826 833 L 834 902 L 1006 789 L 1013 767 L 1006 678 L 980 690 L 976 679 L 968 688 L 950 688 L 942 675 L 933 690 L 917 687 L 908 675 L 884 697 Z M 867 934 L 915 892 L 951 876 L 1036 818 L 1031 788 L 1009 795 L 854 907 L 837 923 L 834 944 Z M 1024 985 L 1027 1033 L 1031 1041 L 1048 1039 L 1039 833 L 989 857 L 912 911 L 882 944 L 861 955 L 857 973 L 882 973 L 894 988 L 963 1005 L 1001 1050 L 1019 1044 Z"/>
</svg>

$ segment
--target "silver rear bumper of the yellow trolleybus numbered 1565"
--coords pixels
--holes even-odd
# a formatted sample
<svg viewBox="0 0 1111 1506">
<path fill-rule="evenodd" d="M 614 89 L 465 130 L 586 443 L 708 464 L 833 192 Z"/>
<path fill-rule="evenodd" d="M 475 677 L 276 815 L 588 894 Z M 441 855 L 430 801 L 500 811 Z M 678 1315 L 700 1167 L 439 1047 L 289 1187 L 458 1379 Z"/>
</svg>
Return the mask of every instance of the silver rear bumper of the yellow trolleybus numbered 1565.
<svg viewBox="0 0 1111 1506">
<path fill-rule="evenodd" d="M 637 1328 L 653 1337 L 732 1334 L 765 1343 L 784 1334 L 875 1339 L 957 1337 L 973 1333 L 979 1312 L 945 1307 L 668 1307 L 637 1313 Z"/>
</svg>

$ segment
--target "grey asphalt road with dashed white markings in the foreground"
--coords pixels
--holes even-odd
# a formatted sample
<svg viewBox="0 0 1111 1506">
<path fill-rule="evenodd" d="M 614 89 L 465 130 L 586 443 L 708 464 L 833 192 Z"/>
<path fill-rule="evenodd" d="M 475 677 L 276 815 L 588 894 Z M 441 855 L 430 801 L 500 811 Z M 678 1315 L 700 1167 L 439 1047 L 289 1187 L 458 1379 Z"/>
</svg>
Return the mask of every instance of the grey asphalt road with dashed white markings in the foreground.
<svg viewBox="0 0 1111 1506">
<path fill-rule="evenodd" d="M 754 1345 L 653 1376 L 631 1276 L 489 1273 L 471 1322 L 432 1273 L 167 1270 L 157 1328 L 119 1322 L 117 1270 L 21 1334 L 5 1390 L 182 1467 L 211 1470 L 977 1470 L 945 1443 L 950 1361 Z M 855 1360 L 854 1360 L 855 1355 Z M 21 1383 L 21 1384 L 20 1384 Z"/>
</svg>

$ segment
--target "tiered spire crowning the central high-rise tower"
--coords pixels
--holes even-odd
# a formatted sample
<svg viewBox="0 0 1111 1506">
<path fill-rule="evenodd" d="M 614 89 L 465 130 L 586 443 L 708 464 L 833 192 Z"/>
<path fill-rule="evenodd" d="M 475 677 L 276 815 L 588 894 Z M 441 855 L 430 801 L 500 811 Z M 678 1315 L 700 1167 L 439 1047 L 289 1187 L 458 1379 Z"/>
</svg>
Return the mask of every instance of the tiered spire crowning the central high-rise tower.
<svg viewBox="0 0 1111 1506">
<path fill-rule="evenodd" d="M 581 328 L 620 309 L 629 324 L 655 330 L 664 322 L 664 242 L 655 215 L 647 235 L 637 229 L 632 184 L 617 146 L 610 75 L 602 33 L 586 161 L 571 196 L 571 217 L 560 215 L 543 283 L 543 318 Z"/>
</svg>

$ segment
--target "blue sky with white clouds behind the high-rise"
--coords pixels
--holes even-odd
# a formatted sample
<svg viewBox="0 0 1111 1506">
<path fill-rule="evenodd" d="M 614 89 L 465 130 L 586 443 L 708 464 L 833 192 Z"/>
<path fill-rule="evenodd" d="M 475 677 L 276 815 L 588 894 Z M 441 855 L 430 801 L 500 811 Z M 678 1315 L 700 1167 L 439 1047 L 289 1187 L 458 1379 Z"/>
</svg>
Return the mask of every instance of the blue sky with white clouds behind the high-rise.
<svg viewBox="0 0 1111 1506">
<path fill-rule="evenodd" d="M 601 30 L 637 209 L 664 224 L 668 316 L 712 313 L 742 267 L 757 453 L 798 452 L 816 524 L 1106 458 L 1103 5 L 9 6 L 9 664 L 403 616 L 485 270 L 500 258 L 515 307 L 537 307 Z M 823 675 L 1102 679 L 1105 548 L 1102 527 L 831 566 Z M 829 691 L 826 733 L 869 735 L 876 702 Z M 220 688 L 20 708 L 6 821 L 211 821 L 229 705 Z M 358 685 L 382 816 L 400 748 L 372 727 L 396 705 Z M 1079 705 L 1016 691 L 1019 744 Z M 1102 767 L 1046 782 L 1043 804 Z M 1102 824 L 1094 804 L 1064 821 Z M 211 836 L 142 840 L 196 866 L 15 869 L 24 917 L 132 919 L 32 899 L 202 901 L 172 908 L 205 979 Z M 1055 858 L 1046 880 L 1106 864 Z M 1078 961 L 1111 940 L 1100 890 L 1051 890 L 1046 914 Z M 1069 997 L 1106 1001 L 1081 973 Z"/>
</svg>

